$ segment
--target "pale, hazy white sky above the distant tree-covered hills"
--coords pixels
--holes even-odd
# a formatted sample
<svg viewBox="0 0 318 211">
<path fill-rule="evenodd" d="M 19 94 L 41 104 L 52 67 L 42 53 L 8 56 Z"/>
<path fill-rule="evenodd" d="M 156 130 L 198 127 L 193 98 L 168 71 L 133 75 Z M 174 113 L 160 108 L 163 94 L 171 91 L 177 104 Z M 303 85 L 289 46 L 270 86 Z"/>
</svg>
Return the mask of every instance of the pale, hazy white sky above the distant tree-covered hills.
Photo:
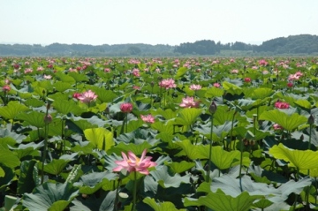
<svg viewBox="0 0 318 211">
<path fill-rule="evenodd" d="M 318 35 L 317 0 L 0 0 L 0 43 L 261 44 Z"/>
</svg>

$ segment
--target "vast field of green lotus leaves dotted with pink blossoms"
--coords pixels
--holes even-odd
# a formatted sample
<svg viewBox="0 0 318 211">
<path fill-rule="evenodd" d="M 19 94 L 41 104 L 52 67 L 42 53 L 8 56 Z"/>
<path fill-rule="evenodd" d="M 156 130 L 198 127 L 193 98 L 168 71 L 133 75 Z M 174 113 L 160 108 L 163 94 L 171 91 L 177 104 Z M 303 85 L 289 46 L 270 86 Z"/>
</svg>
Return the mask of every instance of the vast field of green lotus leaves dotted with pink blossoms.
<svg viewBox="0 0 318 211">
<path fill-rule="evenodd" d="M 0 70 L 0 210 L 318 210 L 318 57 Z"/>
</svg>

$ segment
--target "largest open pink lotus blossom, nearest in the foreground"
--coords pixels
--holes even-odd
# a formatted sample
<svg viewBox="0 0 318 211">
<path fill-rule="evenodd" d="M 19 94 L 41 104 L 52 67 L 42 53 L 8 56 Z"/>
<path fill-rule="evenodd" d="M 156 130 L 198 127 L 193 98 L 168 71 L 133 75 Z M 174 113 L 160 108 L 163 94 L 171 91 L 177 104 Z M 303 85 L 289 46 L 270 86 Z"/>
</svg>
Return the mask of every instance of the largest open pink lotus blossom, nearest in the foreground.
<svg viewBox="0 0 318 211">
<path fill-rule="evenodd" d="M 148 169 L 150 167 L 154 167 L 157 164 L 155 162 L 151 162 L 151 158 L 149 156 L 146 156 L 147 150 L 144 149 L 141 157 L 137 157 L 136 154 L 133 154 L 133 152 L 129 151 L 128 156 L 122 152 L 122 156 L 124 160 L 122 161 L 115 161 L 115 163 L 118 165 L 113 169 L 113 171 L 118 172 L 120 170 L 127 170 L 128 172 L 137 171 L 140 172 L 140 174 L 148 175 L 149 171 Z"/>
</svg>

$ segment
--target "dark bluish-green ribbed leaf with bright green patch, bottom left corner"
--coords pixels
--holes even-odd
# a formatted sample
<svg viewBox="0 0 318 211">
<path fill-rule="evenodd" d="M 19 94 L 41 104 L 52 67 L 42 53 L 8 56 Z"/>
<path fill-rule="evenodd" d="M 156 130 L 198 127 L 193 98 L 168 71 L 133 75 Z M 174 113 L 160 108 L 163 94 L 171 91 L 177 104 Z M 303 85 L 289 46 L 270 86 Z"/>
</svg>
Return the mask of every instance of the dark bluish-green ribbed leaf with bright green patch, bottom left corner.
<svg viewBox="0 0 318 211">
<path fill-rule="evenodd" d="M 25 193 L 23 206 L 29 210 L 63 211 L 79 194 L 79 190 L 70 183 L 44 183 L 32 193 Z"/>
</svg>

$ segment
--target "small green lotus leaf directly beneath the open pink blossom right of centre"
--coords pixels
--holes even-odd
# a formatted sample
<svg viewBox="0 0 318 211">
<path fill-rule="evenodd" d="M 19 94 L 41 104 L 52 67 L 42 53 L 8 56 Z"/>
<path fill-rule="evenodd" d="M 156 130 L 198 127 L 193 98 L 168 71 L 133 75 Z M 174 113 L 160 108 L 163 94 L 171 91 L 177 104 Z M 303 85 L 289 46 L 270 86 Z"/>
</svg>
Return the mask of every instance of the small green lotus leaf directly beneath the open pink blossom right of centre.
<svg viewBox="0 0 318 211">
<path fill-rule="evenodd" d="M 191 125 L 202 113 L 201 109 L 182 109 L 178 113 L 178 117 L 175 119 L 174 124 Z"/>
</svg>

